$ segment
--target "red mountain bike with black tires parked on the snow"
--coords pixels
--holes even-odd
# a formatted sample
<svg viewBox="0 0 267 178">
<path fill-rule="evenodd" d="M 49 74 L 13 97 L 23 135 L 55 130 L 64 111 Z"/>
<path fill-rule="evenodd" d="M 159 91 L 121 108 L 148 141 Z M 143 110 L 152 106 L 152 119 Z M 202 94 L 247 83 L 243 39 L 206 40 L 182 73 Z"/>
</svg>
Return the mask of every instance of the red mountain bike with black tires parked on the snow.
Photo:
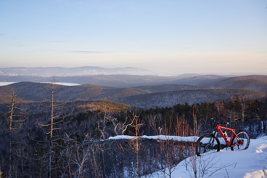
<svg viewBox="0 0 267 178">
<path fill-rule="evenodd" d="M 221 144 L 220 140 L 217 137 L 218 131 L 222 135 L 222 138 L 225 140 L 225 146 L 226 147 L 231 147 L 231 150 L 245 150 L 249 146 L 249 134 L 246 131 L 238 131 L 235 133 L 236 130 L 236 125 L 239 121 L 242 119 L 234 119 L 236 121 L 235 127 L 232 128 L 227 128 L 227 127 L 222 127 L 220 124 L 229 124 L 223 121 L 216 121 L 213 118 L 211 120 L 214 123 L 217 123 L 217 127 L 214 129 L 212 134 L 204 134 L 201 137 L 199 137 L 197 143 L 196 143 L 196 154 L 198 156 L 201 156 L 202 153 L 205 152 L 217 152 L 220 151 L 221 149 Z M 228 136 L 226 131 L 222 131 L 222 129 L 230 130 L 232 132 L 230 140 L 228 140 Z"/>
</svg>

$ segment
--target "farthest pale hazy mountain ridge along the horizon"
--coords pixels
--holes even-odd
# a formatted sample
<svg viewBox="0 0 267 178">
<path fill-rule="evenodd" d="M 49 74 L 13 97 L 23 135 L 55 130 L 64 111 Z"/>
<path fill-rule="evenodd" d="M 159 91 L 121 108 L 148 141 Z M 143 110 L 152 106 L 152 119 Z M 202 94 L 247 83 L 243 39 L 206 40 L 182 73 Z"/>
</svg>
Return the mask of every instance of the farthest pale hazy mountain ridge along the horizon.
<svg viewBox="0 0 267 178">
<path fill-rule="evenodd" d="M 143 68 L 136 67 L 124 67 L 124 68 L 104 68 L 98 66 L 81 66 L 81 67 L 7 67 L 0 68 L 0 76 L 8 75 L 24 75 L 24 76 L 45 76 L 49 77 L 55 74 L 56 76 L 81 76 L 81 75 L 116 75 L 116 74 L 127 74 L 127 75 L 157 75 L 157 76 L 177 76 L 181 78 L 202 76 L 202 75 L 219 75 L 222 77 L 236 77 L 245 75 L 267 75 L 267 73 L 186 73 L 179 74 L 171 71 L 150 71 Z"/>
</svg>

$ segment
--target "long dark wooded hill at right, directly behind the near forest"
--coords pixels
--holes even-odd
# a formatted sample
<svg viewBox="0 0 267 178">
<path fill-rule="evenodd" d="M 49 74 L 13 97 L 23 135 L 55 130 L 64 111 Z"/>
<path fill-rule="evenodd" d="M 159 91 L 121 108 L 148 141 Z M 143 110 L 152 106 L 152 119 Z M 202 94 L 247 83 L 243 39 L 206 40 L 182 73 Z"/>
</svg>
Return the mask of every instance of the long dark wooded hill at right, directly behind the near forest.
<svg viewBox="0 0 267 178">
<path fill-rule="evenodd" d="M 176 90 L 168 92 L 157 92 L 143 95 L 128 96 L 117 99 L 116 101 L 139 106 L 142 108 L 155 108 L 157 106 L 171 107 L 178 103 L 218 102 L 220 100 L 228 101 L 234 95 L 243 95 L 245 98 L 258 99 L 264 96 L 251 90 L 241 89 L 205 89 L 205 90 Z M 231 100 L 231 99 L 230 99 Z"/>
</svg>

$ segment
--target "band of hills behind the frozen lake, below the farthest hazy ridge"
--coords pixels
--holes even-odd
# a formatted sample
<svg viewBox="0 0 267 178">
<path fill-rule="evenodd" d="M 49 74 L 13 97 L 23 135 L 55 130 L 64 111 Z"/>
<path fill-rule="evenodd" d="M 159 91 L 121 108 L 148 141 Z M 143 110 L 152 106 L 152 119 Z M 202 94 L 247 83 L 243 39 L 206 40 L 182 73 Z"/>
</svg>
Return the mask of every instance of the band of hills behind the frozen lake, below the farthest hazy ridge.
<svg viewBox="0 0 267 178">
<path fill-rule="evenodd" d="M 0 82 L 47 82 L 49 77 L 40 76 L 6 76 L 0 75 Z M 61 83 L 92 84 L 112 87 L 136 87 L 146 91 L 163 92 L 183 89 L 246 89 L 260 93 L 267 92 L 266 75 L 249 75 L 222 77 L 218 75 L 201 75 L 194 77 L 155 76 L 155 75 L 85 75 L 57 77 Z M 154 87 L 154 85 L 156 85 Z M 161 85 L 161 86 L 160 86 Z M 163 85 L 165 85 L 163 87 Z M 173 85 L 168 86 L 167 85 Z M 186 87 L 182 85 L 188 85 Z M 165 88 L 165 89 L 164 89 Z"/>
</svg>

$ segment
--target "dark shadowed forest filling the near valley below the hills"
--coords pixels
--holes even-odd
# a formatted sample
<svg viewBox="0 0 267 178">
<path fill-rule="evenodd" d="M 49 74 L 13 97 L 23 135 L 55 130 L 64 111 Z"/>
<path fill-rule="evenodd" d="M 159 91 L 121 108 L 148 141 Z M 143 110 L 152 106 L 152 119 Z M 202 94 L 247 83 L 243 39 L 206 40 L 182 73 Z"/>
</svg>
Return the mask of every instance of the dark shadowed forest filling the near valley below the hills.
<svg viewBox="0 0 267 178">
<path fill-rule="evenodd" d="M 54 108 L 54 116 L 51 101 L 11 98 L 18 101 L 12 119 L 10 102 L 0 107 L 3 177 L 137 177 L 168 172 L 192 156 L 193 145 L 101 140 L 116 135 L 200 136 L 212 131 L 211 117 L 229 122 L 229 127 L 234 118 L 241 118 L 237 130 L 248 131 L 251 139 L 267 133 L 267 95 L 258 100 L 234 95 L 227 101 L 150 109 L 112 101 L 65 102 L 55 97 L 60 107 Z M 53 123 L 51 117 L 55 117 Z"/>
</svg>

